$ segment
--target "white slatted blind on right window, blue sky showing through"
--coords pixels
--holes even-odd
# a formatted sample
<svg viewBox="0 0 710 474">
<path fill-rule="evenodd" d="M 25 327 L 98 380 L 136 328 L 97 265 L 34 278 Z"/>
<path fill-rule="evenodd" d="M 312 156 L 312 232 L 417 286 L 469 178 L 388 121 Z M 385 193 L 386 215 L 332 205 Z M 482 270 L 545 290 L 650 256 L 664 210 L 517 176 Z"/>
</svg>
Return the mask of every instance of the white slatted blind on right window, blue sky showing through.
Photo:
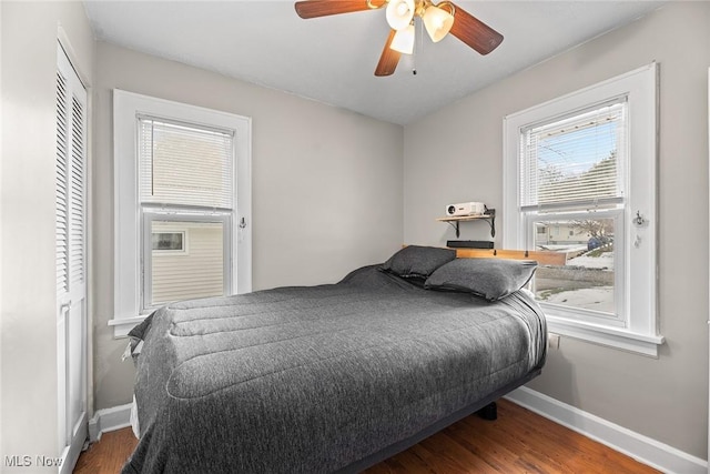
<svg viewBox="0 0 710 474">
<path fill-rule="evenodd" d="M 623 198 L 626 98 L 521 130 L 520 208 Z"/>
</svg>

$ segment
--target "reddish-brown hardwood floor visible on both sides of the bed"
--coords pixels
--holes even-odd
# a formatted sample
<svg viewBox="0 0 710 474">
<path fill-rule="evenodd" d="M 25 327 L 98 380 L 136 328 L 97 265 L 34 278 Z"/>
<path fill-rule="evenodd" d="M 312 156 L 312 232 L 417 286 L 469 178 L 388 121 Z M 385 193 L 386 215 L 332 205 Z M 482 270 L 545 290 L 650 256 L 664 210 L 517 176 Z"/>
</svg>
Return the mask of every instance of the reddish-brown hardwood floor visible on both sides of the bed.
<svg viewBox="0 0 710 474">
<path fill-rule="evenodd" d="M 135 444 L 131 428 L 105 433 L 99 443 L 81 454 L 74 474 L 119 473 Z M 500 400 L 495 422 L 468 416 L 366 473 L 641 474 L 658 471 Z"/>
</svg>

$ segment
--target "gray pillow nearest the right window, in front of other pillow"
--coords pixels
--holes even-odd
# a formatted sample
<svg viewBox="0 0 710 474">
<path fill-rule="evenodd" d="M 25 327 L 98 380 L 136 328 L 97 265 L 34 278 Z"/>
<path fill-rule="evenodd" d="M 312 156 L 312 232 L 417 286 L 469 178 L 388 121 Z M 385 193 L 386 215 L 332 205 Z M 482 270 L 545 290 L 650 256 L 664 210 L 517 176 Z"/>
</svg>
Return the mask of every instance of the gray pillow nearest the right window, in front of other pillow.
<svg viewBox="0 0 710 474">
<path fill-rule="evenodd" d="M 497 301 L 525 286 L 536 269 L 532 260 L 456 259 L 439 266 L 424 288 L 464 291 Z"/>
</svg>

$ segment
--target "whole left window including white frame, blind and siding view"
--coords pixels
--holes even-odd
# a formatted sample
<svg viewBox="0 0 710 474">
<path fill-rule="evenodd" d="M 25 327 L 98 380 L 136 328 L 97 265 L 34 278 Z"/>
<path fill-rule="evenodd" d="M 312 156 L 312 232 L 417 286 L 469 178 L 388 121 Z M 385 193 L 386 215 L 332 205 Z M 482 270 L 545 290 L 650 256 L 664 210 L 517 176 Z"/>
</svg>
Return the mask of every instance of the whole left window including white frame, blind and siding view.
<svg viewBox="0 0 710 474">
<path fill-rule="evenodd" d="M 251 291 L 251 123 L 114 91 L 115 334 L 179 300 Z"/>
</svg>

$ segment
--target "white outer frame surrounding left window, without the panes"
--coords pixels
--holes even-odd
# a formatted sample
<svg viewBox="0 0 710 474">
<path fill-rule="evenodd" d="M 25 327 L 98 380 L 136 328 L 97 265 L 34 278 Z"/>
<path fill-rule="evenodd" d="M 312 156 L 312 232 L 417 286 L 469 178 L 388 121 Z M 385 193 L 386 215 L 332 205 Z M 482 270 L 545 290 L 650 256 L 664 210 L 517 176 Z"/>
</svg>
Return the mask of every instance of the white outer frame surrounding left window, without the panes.
<svg viewBox="0 0 710 474">
<path fill-rule="evenodd" d="M 225 232 L 229 293 L 252 291 L 252 121 L 227 112 L 113 90 L 114 159 L 114 336 L 125 336 L 149 312 L 141 313 L 141 212 L 138 181 L 138 117 L 151 115 L 185 123 L 231 130 L 235 148 L 234 215 Z M 226 249 L 226 246 L 225 246 Z"/>
</svg>

